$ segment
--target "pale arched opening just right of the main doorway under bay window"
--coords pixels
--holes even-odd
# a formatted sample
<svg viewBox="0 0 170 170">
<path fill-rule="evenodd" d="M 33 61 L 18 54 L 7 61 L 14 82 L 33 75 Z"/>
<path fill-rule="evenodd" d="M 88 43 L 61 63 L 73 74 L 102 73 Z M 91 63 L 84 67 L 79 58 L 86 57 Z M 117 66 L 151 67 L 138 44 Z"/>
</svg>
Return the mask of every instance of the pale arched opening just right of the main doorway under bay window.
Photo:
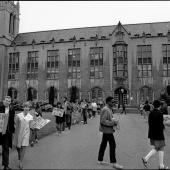
<svg viewBox="0 0 170 170">
<path fill-rule="evenodd" d="M 139 101 L 153 101 L 153 90 L 151 87 L 143 86 L 139 90 Z"/>
</svg>

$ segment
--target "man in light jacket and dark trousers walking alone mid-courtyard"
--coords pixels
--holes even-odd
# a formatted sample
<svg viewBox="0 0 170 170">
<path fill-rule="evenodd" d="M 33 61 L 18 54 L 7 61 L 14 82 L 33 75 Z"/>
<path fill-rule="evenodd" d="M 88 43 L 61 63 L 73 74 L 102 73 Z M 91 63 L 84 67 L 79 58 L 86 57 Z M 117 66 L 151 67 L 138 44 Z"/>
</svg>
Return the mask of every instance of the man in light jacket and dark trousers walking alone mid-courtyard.
<svg viewBox="0 0 170 170">
<path fill-rule="evenodd" d="M 104 152 L 106 150 L 107 142 L 110 145 L 110 163 L 116 169 L 123 169 L 123 166 L 116 163 L 116 143 L 114 139 L 114 127 L 118 125 L 118 121 L 113 118 L 112 107 L 114 105 L 113 97 L 106 98 L 106 106 L 102 109 L 100 115 L 99 131 L 103 133 L 102 141 L 99 148 L 98 163 L 103 164 Z"/>
</svg>

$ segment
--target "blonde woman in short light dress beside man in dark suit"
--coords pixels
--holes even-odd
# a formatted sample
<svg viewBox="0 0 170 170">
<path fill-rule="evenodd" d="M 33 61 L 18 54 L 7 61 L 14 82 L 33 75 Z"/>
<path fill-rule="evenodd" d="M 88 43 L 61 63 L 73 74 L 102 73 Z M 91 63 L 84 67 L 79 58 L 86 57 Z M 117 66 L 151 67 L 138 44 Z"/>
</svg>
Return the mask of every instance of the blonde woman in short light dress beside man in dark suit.
<svg viewBox="0 0 170 170">
<path fill-rule="evenodd" d="M 24 111 L 15 116 L 15 134 L 13 145 L 17 148 L 19 168 L 23 169 L 23 158 L 26 147 L 29 146 L 30 128 L 33 116 L 30 114 L 31 104 L 25 102 L 23 104 Z"/>
</svg>

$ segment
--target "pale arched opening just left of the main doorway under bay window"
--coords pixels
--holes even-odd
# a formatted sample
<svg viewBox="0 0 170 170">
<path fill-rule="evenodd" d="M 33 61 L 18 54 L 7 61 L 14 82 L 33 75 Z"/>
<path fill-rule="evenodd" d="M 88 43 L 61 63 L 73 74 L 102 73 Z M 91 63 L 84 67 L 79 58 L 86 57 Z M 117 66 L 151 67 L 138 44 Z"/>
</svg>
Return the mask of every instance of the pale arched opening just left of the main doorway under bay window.
<svg viewBox="0 0 170 170">
<path fill-rule="evenodd" d="M 91 99 L 97 102 L 103 100 L 103 90 L 99 87 L 94 87 L 91 89 Z"/>
</svg>

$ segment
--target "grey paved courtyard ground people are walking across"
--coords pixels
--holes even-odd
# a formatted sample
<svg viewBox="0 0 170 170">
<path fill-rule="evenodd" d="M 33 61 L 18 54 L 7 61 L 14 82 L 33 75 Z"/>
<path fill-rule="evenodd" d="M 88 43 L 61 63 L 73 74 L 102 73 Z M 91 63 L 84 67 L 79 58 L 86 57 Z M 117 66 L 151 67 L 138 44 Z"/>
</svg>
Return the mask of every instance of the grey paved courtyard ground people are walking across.
<svg viewBox="0 0 170 170">
<path fill-rule="evenodd" d="M 139 114 L 115 115 L 120 119 L 120 130 L 115 132 L 117 161 L 125 169 L 144 169 L 141 157 L 151 146 L 147 139 L 147 123 Z M 99 116 L 88 120 L 87 125 L 75 125 L 61 136 L 55 133 L 27 149 L 25 169 L 112 169 L 97 164 L 101 142 Z M 165 130 L 165 164 L 170 167 L 170 128 Z M 109 147 L 104 160 L 109 161 Z M 158 168 L 158 155 L 150 159 L 149 169 Z M 17 153 L 10 155 L 10 167 L 18 168 Z M 1 168 L 1 167 L 0 167 Z"/>
</svg>

